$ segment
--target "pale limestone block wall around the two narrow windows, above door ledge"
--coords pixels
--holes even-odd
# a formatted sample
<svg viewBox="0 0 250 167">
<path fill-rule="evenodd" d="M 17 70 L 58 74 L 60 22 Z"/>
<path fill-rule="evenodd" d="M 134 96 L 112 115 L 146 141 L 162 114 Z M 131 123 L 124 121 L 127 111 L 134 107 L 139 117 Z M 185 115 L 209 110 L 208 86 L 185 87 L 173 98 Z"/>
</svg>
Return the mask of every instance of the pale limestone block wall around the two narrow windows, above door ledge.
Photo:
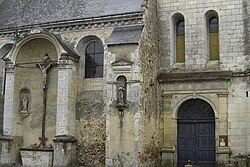
<svg viewBox="0 0 250 167">
<path fill-rule="evenodd" d="M 243 0 L 159 0 L 161 66 L 168 70 L 175 65 L 175 40 L 172 17 L 180 13 L 185 19 L 185 69 L 205 70 L 217 64 L 219 69 L 244 69 Z M 219 16 L 220 61 L 209 62 L 206 12 Z"/>
</svg>

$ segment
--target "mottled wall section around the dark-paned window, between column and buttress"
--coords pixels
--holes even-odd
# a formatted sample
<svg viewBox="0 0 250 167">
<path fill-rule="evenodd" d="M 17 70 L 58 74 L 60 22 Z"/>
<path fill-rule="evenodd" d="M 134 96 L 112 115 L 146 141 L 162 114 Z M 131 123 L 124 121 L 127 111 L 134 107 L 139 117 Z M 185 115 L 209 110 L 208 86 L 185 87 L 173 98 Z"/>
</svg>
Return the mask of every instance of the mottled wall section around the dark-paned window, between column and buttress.
<svg viewBox="0 0 250 167">
<path fill-rule="evenodd" d="M 64 42 L 80 56 L 77 74 L 76 137 L 78 165 L 105 166 L 106 116 L 104 111 L 105 75 L 107 66 L 106 41 L 113 28 L 64 32 Z M 85 48 L 97 39 L 104 46 L 104 77 L 85 78 Z"/>
</svg>

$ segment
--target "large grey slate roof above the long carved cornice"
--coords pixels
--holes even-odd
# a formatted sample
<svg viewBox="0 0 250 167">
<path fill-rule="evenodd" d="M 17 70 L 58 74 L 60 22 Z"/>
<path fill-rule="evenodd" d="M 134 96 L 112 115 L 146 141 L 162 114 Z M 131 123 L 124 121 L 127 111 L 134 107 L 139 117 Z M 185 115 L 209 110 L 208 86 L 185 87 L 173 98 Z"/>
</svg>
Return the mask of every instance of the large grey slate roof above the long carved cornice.
<svg viewBox="0 0 250 167">
<path fill-rule="evenodd" d="M 143 0 L 0 0 L 0 29 L 142 12 Z"/>
</svg>

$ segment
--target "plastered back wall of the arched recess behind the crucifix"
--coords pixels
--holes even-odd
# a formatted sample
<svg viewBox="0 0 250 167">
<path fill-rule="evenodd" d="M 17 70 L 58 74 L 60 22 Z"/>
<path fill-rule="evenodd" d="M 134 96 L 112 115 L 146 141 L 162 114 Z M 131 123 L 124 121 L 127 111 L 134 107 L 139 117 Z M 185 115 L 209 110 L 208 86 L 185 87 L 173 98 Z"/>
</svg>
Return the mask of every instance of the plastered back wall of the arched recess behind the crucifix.
<svg viewBox="0 0 250 167">
<path fill-rule="evenodd" d="M 24 148 L 40 143 L 44 112 L 43 73 L 33 62 L 44 62 L 46 54 L 50 61 L 57 61 L 55 46 L 46 39 L 38 38 L 22 45 L 16 57 L 14 101 L 19 103 L 16 103 L 14 110 L 19 114 L 14 118 L 17 123 L 13 135 L 23 137 Z M 47 72 L 45 136 L 48 145 L 53 145 L 56 133 L 57 75 L 56 66 Z"/>
</svg>

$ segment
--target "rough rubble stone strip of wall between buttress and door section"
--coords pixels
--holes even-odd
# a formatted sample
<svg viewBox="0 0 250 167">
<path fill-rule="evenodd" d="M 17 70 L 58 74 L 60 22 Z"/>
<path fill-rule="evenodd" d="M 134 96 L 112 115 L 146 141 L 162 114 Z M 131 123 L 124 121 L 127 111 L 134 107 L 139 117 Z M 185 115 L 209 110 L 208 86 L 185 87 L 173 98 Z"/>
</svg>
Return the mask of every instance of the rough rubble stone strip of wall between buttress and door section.
<svg viewBox="0 0 250 167">
<path fill-rule="evenodd" d="M 140 166 L 157 166 L 160 155 L 159 132 L 160 98 L 159 85 L 156 80 L 159 71 L 159 34 L 156 1 L 144 1 L 145 27 L 140 43 L 140 94 L 139 113 Z M 136 125 L 135 125 L 136 126 Z M 137 128 L 137 127 L 135 127 Z"/>
</svg>

